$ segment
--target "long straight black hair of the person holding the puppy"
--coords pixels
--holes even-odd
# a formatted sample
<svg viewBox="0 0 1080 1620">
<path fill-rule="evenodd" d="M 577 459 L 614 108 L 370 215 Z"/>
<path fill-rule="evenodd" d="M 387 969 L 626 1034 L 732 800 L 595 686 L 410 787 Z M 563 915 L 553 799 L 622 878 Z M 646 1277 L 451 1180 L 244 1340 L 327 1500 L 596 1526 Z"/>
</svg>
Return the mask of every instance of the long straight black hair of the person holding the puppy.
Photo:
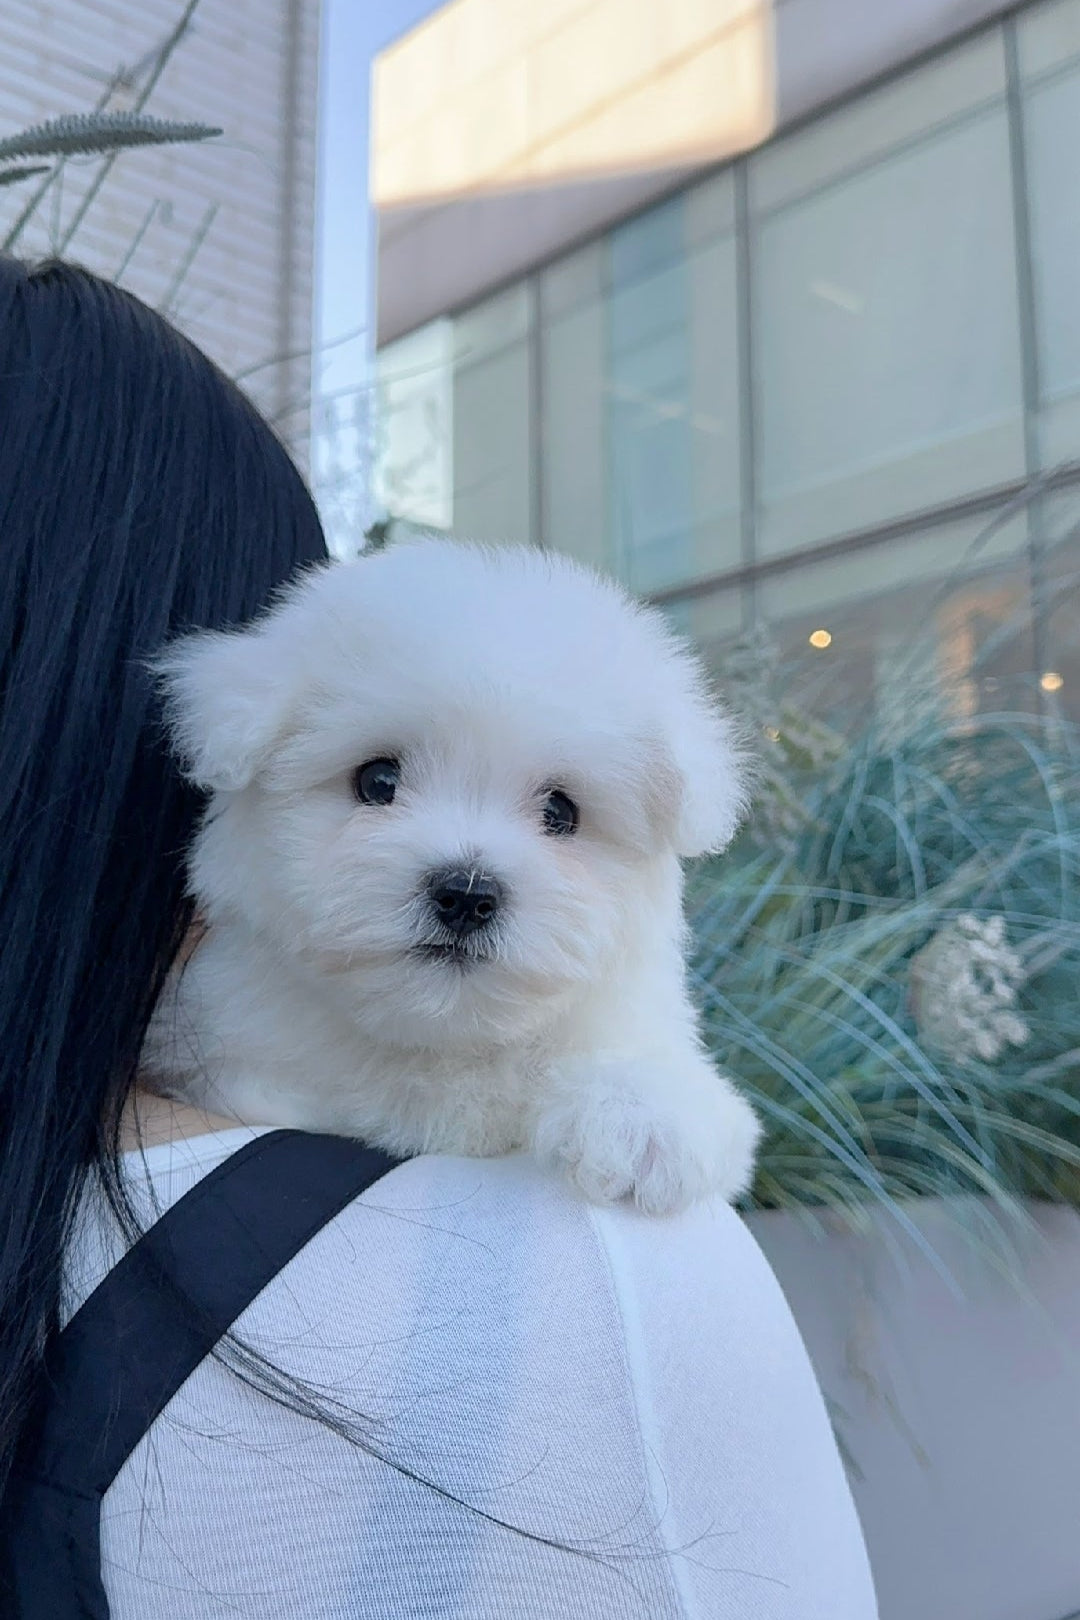
<svg viewBox="0 0 1080 1620">
<path fill-rule="evenodd" d="M 243 394 L 130 293 L 0 258 L 0 1494 L 89 1174 L 191 923 L 147 659 L 325 557 Z"/>
</svg>

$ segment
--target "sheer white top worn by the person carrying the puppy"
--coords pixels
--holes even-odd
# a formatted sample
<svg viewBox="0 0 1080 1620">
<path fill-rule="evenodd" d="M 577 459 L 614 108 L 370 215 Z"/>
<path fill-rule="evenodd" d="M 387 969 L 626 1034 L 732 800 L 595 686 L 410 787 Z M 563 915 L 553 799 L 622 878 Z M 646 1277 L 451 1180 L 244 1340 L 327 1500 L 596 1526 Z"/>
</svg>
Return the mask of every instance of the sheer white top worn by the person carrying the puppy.
<svg viewBox="0 0 1080 1620">
<path fill-rule="evenodd" d="M 147 1218 L 254 1134 L 126 1155 Z M 87 1199 L 68 1311 L 121 1247 Z M 876 1617 L 806 1353 L 724 1205 L 656 1220 L 523 1157 L 416 1158 L 235 1332 L 431 1484 L 206 1361 L 105 1495 L 113 1620 Z"/>
</svg>

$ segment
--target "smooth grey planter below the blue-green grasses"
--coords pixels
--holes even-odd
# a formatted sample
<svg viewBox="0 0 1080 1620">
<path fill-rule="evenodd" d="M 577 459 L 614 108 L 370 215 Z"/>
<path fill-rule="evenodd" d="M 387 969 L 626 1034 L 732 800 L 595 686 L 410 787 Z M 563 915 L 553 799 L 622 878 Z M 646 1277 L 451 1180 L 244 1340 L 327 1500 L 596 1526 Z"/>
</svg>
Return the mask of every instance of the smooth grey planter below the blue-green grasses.
<svg viewBox="0 0 1080 1620">
<path fill-rule="evenodd" d="M 1077 1620 L 1080 1215 L 910 1212 L 947 1278 L 887 1217 L 763 1212 L 850 1461 L 881 1620 Z"/>
</svg>

